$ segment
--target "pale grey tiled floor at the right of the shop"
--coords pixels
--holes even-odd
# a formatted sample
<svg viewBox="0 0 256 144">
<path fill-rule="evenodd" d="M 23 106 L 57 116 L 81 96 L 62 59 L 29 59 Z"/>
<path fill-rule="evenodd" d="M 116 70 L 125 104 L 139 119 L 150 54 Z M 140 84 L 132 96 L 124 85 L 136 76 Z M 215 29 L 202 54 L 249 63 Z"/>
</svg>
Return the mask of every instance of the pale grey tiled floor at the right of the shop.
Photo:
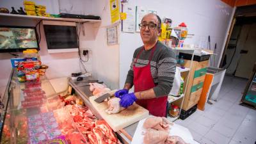
<svg viewBox="0 0 256 144">
<path fill-rule="evenodd" d="M 239 105 L 246 83 L 246 79 L 225 76 L 215 104 L 175 123 L 187 127 L 202 144 L 255 144 L 256 110 Z"/>
</svg>

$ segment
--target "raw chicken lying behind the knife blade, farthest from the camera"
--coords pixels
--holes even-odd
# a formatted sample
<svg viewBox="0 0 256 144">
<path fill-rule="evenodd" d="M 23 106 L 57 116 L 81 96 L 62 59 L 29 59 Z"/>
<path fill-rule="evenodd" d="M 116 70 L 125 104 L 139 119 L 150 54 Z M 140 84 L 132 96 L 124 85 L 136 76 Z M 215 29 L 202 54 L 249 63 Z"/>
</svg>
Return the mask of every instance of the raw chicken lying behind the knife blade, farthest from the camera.
<svg viewBox="0 0 256 144">
<path fill-rule="evenodd" d="M 89 83 L 89 84 L 90 84 L 89 89 L 94 96 L 104 95 L 105 93 L 108 93 L 111 91 L 109 88 L 107 88 L 103 84 L 99 84 L 99 83 Z"/>
</svg>

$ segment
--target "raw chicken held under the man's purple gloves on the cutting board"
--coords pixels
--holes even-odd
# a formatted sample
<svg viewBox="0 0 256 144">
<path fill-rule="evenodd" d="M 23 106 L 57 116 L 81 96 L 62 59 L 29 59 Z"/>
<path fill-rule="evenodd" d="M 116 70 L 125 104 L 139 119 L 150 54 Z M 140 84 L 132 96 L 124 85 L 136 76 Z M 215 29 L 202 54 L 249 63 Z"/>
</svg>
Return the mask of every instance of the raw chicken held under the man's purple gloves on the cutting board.
<svg viewBox="0 0 256 144">
<path fill-rule="evenodd" d="M 115 114 L 124 110 L 122 106 L 120 106 L 120 98 L 114 97 L 113 99 L 108 100 L 108 109 L 106 109 L 106 113 Z"/>
</svg>

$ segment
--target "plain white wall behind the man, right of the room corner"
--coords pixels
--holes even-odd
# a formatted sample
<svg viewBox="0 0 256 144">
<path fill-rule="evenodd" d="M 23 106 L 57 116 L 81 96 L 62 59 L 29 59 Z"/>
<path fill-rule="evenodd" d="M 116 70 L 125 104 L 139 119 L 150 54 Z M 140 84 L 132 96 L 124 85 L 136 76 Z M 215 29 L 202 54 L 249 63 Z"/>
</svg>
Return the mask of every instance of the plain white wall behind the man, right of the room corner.
<svg viewBox="0 0 256 144">
<path fill-rule="evenodd" d="M 188 33 L 195 36 L 187 38 L 184 44 L 194 44 L 205 48 L 210 35 L 212 50 L 214 50 L 214 44 L 217 43 L 216 52 L 218 56 L 215 58 L 215 65 L 218 64 L 233 8 L 220 0 L 130 0 L 129 4 L 157 10 L 157 15 L 161 19 L 168 17 L 173 20 L 172 26 L 178 26 L 181 22 L 185 22 L 188 26 Z M 136 48 L 143 44 L 140 39 L 140 33 L 122 32 L 120 37 L 120 88 L 122 88 L 127 70 L 129 70 L 131 64 L 132 54 Z"/>
</svg>

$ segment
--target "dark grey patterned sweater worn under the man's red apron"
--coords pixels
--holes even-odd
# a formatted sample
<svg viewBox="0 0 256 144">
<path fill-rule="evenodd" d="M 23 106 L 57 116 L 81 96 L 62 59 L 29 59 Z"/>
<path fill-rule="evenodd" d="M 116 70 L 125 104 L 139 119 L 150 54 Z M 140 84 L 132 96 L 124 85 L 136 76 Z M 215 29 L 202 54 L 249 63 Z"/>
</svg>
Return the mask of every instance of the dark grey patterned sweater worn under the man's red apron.
<svg viewBox="0 0 256 144">
<path fill-rule="evenodd" d="M 135 67 L 144 67 L 148 64 L 148 59 L 150 57 L 152 49 L 145 50 L 142 47 L 139 47 L 134 51 L 131 68 L 128 71 L 125 83 L 131 83 L 133 86 L 133 64 L 136 61 L 136 57 L 140 50 L 143 51 L 140 54 L 140 57 L 135 64 Z M 175 76 L 176 70 L 176 56 L 175 53 L 167 47 L 162 42 L 157 42 L 156 50 L 150 61 L 150 71 L 154 79 L 156 86 L 153 88 L 156 97 L 161 97 L 168 95 L 172 90 L 173 79 Z"/>
</svg>

